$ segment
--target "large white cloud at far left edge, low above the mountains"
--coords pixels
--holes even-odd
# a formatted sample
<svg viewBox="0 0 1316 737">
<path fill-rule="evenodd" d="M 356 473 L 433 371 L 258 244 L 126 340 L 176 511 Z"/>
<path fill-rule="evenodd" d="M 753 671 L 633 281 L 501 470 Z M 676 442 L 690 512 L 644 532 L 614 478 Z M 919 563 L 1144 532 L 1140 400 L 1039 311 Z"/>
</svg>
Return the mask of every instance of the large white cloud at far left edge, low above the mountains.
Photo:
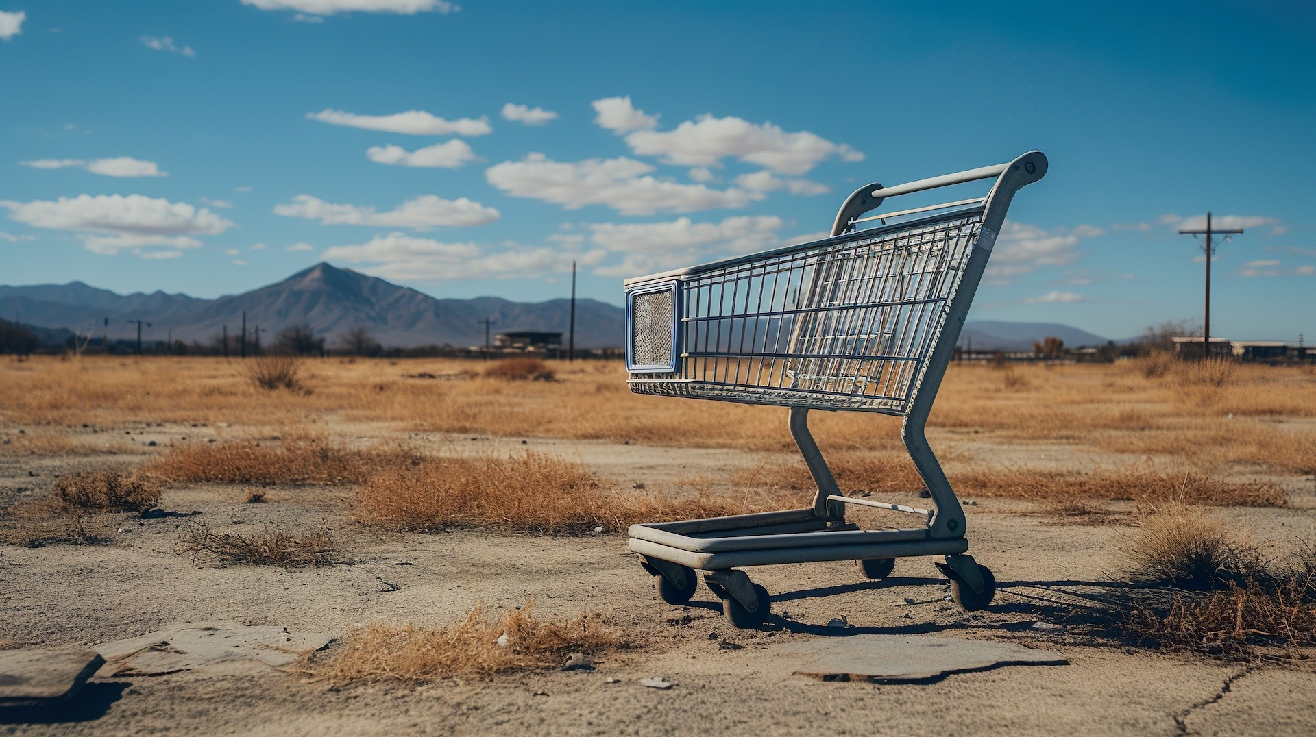
<svg viewBox="0 0 1316 737">
<path fill-rule="evenodd" d="M 145 195 L 78 195 L 58 200 L 0 200 L 9 220 L 33 228 L 83 233 L 88 250 L 114 254 L 124 249 L 201 246 L 193 236 L 215 236 L 233 226 L 205 208 Z"/>
</svg>

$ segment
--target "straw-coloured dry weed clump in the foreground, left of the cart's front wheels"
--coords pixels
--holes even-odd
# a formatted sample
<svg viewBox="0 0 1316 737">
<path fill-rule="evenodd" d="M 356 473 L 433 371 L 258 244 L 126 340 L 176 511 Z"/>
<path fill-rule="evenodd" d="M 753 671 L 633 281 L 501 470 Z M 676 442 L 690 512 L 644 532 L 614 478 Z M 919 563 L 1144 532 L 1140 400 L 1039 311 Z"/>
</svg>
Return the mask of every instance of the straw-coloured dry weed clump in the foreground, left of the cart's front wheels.
<svg viewBox="0 0 1316 737">
<path fill-rule="evenodd" d="M 570 653 L 592 655 L 625 646 L 599 619 L 582 615 L 570 621 L 546 621 L 526 603 L 496 621 L 483 607 L 475 607 L 455 626 L 372 624 L 353 629 L 342 651 L 322 662 L 308 662 L 304 673 L 334 684 L 416 683 L 561 667 Z"/>
</svg>

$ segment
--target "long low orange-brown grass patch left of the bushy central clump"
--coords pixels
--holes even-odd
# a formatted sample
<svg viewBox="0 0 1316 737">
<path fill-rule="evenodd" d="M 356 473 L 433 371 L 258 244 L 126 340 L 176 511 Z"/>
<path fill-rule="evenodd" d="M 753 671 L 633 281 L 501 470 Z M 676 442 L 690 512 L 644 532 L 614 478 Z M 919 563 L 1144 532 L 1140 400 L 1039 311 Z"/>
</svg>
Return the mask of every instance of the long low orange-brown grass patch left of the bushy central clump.
<svg viewBox="0 0 1316 737">
<path fill-rule="evenodd" d="M 418 459 L 415 450 L 400 445 L 351 449 L 322 437 L 290 436 L 183 445 L 150 463 L 146 472 L 170 482 L 347 484 Z"/>
</svg>

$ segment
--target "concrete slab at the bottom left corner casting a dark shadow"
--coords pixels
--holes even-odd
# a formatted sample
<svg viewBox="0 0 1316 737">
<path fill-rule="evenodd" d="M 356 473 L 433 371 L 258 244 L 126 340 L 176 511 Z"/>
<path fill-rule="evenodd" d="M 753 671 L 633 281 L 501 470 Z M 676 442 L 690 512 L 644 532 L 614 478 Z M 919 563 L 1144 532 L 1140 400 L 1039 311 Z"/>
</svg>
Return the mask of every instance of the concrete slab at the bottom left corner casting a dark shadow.
<svg viewBox="0 0 1316 737">
<path fill-rule="evenodd" d="M 82 648 L 0 650 L 0 707 L 43 707 L 82 690 L 104 663 Z"/>
</svg>

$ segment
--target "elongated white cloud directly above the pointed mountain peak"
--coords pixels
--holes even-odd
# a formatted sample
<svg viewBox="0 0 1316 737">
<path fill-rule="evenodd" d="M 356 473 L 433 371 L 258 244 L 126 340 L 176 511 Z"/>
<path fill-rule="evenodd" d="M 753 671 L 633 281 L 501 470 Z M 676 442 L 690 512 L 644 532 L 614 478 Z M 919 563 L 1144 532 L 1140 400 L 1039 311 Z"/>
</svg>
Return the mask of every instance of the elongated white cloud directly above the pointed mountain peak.
<svg viewBox="0 0 1316 737">
<path fill-rule="evenodd" d="M 470 228 L 487 225 L 499 218 L 499 212 L 480 203 L 458 197 L 445 200 L 436 195 L 421 195 L 388 212 L 372 207 L 338 205 L 311 195 L 297 195 L 291 204 L 275 205 L 275 215 L 318 220 L 321 225 L 375 225 L 380 228 Z"/>
</svg>

